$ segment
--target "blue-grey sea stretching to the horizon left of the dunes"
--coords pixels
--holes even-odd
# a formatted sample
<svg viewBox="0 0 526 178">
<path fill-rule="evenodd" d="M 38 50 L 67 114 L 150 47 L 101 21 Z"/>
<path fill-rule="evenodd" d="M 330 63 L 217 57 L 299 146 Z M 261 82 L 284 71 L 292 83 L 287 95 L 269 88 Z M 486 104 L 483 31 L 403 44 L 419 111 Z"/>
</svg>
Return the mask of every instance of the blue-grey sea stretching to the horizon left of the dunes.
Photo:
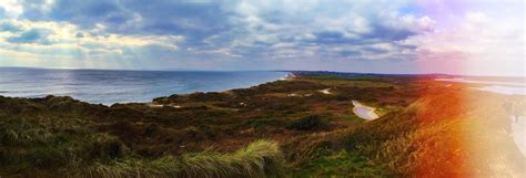
<svg viewBox="0 0 526 178">
<path fill-rule="evenodd" d="M 71 96 L 92 103 L 143 103 L 155 97 L 220 92 L 283 78 L 274 71 L 117 71 L 0 67 L 0 95 Z"/>
</svg>

